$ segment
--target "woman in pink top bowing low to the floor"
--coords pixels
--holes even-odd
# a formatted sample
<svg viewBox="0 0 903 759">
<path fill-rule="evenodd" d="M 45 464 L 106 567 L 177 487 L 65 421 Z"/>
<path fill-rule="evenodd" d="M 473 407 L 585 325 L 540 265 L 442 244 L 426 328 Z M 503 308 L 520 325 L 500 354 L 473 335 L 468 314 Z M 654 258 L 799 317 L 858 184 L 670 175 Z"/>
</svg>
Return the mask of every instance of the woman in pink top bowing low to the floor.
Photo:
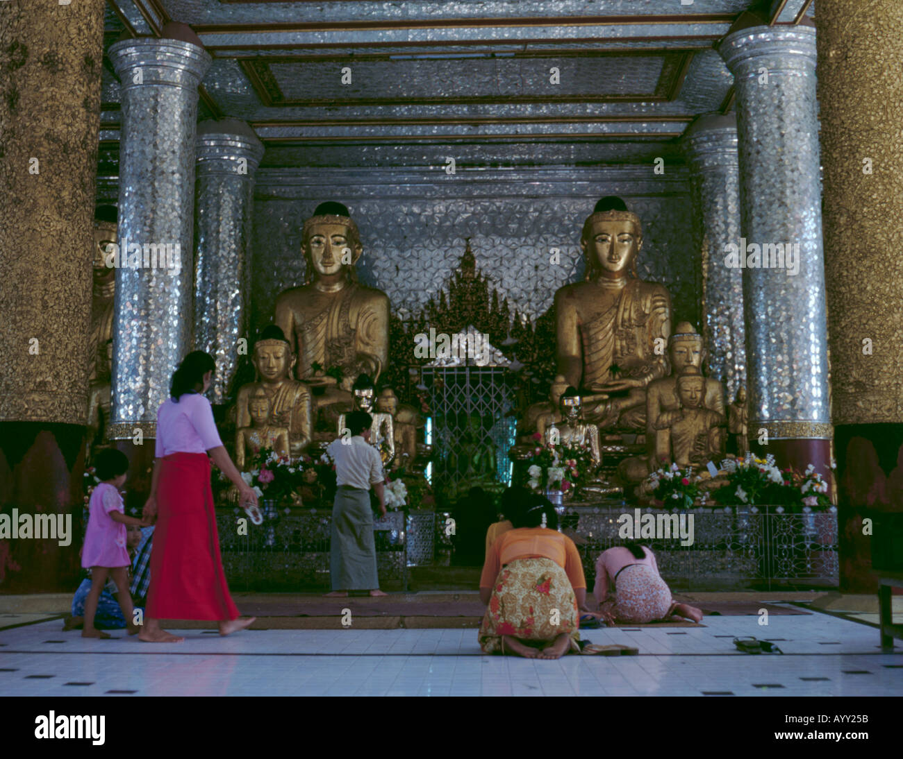
<svg viewBox="0 0 903 759">
<path fill-rule="evenodd" d="M 700 609 L 671 598 L 671 590 L 658 573 L 655 553 L 634 541 L 600 554 L 592 594 L 599 603 L 594 616 L 609 626 L 617 622 L 645 625 L 674 615 L 694 622 L 703 618 Z"/>
</svg>

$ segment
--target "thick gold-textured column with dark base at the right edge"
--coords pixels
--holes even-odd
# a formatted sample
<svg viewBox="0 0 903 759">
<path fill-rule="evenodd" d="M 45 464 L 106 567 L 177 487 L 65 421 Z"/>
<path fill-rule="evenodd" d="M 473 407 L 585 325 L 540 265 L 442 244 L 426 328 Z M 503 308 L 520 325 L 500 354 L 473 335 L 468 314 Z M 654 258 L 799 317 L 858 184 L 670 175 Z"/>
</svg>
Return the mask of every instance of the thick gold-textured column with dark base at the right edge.
<svg viewBox="0 0 903 759">
<path fill-rule="evenodd" d="M 865 592 L 862 519 L 903 511 L 903 3 L 819 0 L 816 26 L 841 587 Z"/>
</svg>

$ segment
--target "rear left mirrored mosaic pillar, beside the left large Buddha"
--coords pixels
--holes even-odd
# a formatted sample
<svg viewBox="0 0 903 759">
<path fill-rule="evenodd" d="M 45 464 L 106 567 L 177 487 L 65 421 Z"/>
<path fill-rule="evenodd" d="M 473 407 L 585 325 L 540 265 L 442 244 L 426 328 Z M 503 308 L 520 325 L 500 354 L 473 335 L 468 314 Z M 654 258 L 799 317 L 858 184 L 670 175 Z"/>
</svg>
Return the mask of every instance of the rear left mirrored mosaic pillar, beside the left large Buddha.
<svg viewBox="0 0 903 759">
<path fill-rule="evenodd" d="M 263 143 L 236 119 L 198 125 L 194 347 L 217 362 L 208 397 L 224 403 L 247 335 L 254 175 Z M 249 350 L 249 349 L 248 349 Z"/>
</svg>

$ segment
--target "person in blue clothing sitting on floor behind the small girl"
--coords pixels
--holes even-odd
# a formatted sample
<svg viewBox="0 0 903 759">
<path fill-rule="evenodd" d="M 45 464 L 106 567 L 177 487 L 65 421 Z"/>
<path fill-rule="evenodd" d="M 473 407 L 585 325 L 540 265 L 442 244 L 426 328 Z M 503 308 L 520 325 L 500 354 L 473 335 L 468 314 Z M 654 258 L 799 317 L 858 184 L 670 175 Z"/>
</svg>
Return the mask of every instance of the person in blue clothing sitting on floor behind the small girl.
<svg viewBox="0 0 903 759">
<path fill-rule="evenodd" d="M 129 590 L 132 594 L 132 600 L 135 608 L 140 608 L 144 614 L 144 599 L 147 597 L 147 585 L 150 582 L 150 555 L 151 544 L 154 535 L 154 527 L 139 527 L 136 525 L 126 526 L 126 550 L 132 557 L 132 566 L 129 567 L 129 573 L 132 575 L 129 582 Z M 139 571 L 139 560 L 143 559 L 143 568 Z M 84 625 L 85 600 L 88 599 L 88 592 L 91 590 L 91 571 L 85 570 L 88 575 L 81 581 L 79 589 L 75 591 L 72 597 L 71 614 L 63 620 L 63 630 L 77 630 Z M 137 582 L 140 580 L 141 582 Z M 136 590 L 144 587 L 144 595 L 137 595 Z M 112 578 L 107 579 L 107 584 L 100 591 L 98 599 L 98 610 L 94 615 L 94 627 L 97 630 L 121 630 L 126 627 L 126 620 L 122 616 L 122 610 L 119 608 L 119 601 L 116 599 L 116 583 Z M 132 620 L 129 620 L 129 624 Z"/>
</svg>

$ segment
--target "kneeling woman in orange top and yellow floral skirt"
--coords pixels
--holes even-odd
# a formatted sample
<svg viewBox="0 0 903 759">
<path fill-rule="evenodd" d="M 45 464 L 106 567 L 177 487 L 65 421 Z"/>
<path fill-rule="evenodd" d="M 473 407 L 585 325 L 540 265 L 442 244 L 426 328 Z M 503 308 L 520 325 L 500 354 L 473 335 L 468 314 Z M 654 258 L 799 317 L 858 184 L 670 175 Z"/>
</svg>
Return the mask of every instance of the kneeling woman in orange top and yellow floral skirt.
<svg viewBox="0 0 903 759">
<path fill-rule="evenodd" d="M 489 546 L 479 579 L 487 605 L 479 627 L 483 652 L 557 659 L 580 652 L 586 580 L 577 546 L 557 530 L 555 509 L 531 493 L 514 528 Z"/>
</svg>

